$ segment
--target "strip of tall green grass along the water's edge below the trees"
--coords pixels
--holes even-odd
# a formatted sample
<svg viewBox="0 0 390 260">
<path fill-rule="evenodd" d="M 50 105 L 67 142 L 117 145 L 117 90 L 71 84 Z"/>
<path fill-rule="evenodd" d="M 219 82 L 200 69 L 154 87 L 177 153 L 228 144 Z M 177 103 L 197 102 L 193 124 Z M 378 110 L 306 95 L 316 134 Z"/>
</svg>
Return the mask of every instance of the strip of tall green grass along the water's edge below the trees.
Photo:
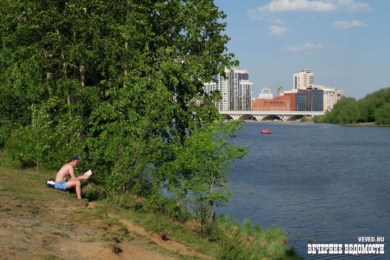
<svg viewBox="0 0 390 260">
<path fill-rule="evenodd" d="M 112 203 L 112 198 L 106 202 L 115 204 Z M 189 225 L 180 225 L 162 214 L 121 207 L 116 210 L 122 218 L 131 219 L 148 231 L 169 234 L 175 241 L 186 245 L 194 252 L 211 255 L 215 259 L 303 259 L 293 248 L 287 246 L 288 239 L 283 229 L 275 227 L 263 229 L 260 225 L 252 227 L 248 219 L 239 223 L 222 216 L 213 226 L 214 231 L 209 237 L 200 237 Z"/>
</svg>

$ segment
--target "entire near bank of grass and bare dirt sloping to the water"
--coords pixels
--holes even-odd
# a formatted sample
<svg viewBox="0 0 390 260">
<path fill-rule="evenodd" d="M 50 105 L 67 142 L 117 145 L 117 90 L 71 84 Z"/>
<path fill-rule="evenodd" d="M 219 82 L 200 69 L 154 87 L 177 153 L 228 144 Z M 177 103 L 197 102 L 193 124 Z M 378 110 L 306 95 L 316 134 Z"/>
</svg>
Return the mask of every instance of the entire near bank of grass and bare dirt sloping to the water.
<svg viewBox="0 0 390 260">
<path fill-rule="evenodd" d="M 79 201 L 46 187 L 54 174 L 0 167 L 1 259 L 302 259 L 283 230 L 227 217 L 200 226 L 183 208 L 166 214 L 167 202 L 131 195 Z"/>
</svg>

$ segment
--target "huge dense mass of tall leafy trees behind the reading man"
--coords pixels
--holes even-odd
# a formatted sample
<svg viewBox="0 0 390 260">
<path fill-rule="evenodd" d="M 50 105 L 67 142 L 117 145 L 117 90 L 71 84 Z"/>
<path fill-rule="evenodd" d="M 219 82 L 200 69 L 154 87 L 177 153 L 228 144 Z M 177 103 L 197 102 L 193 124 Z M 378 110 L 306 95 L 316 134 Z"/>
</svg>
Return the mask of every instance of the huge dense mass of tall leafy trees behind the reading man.
<svg viewBox="0 0 390 260">
<path fill-rule="evenodd" d="M 202 129 L 225 131 L 211 124 L 222 118 L 202 94 L 204 82 L 238 65 L 225 53 L 225 14 L 213 2 L 0 5 L 0 124 L 11 128 L 6 147 L 12 163 L 58 169 L 78 154 L 85 159 L 80 167 L 98 173 L 95 182 L 141 193 L 156 169 L 178 161 L 188 146 L 197 149 L 192 144 L 203 141 Z M 214 148 L 223 157 L 225 150 Z M 178 172 L 186 182 L 167 177 L 154 184 L 191 186 L 194 175 Z"/>
</svg>

